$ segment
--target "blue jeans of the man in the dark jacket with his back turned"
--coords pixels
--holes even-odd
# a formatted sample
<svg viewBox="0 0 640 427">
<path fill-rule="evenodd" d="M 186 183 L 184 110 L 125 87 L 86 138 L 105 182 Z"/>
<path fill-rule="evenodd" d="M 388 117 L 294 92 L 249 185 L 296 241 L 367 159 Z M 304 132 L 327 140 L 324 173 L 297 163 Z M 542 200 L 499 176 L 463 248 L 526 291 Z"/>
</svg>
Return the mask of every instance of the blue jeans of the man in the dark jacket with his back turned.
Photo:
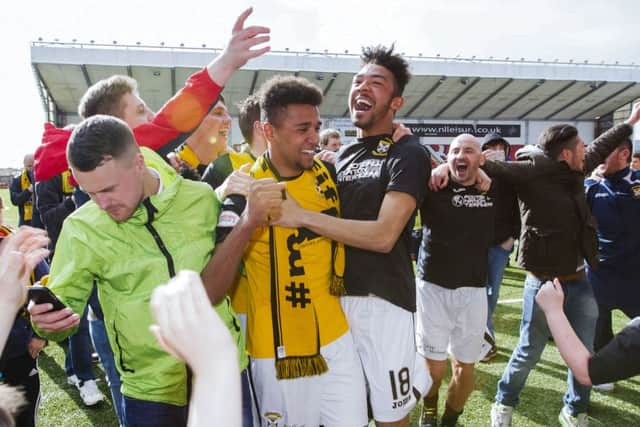
<svg viewBox="0 0 640 427">
<path fill-rule="evenodd" d="M 515 407 L 520 401 L 520 392 L 524 388 L 529 372 L 533 369 L 544 350 L 551 335 L 544 312 L 535 302 L 535 296 L 543 281 L 527 274 L 524 282 L 524 302 L 522 305 L 522 322 L 520 323 L 520 340 L 513 350 L 511 359 L 498 382 L 496 402 Z M 586 279 L 565 281 L 564 312 L 569 323 L 576 331 L 580 341 L 593 351 L 598 306 L 593 297 L 593 290 Z M 567 393 L 563 401 L 572 415 L 587 412 L 591 387 L 584 386 L 575 380 L 569 370 L 567 377 Z"/>
</svg>

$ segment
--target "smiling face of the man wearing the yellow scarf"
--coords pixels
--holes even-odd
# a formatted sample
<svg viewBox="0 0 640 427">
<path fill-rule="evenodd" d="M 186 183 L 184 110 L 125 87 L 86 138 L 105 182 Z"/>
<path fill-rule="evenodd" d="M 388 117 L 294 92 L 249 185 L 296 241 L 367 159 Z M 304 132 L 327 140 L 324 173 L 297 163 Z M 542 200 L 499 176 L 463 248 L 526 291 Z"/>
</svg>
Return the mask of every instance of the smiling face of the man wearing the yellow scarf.
<svg viewBox="0 0 640 427">
<path fill-rule="evenodd" d="M 289 104 L 282 109 L 278 122 L 264 124 L 271 161 L 278 172 L 292 177 L 311 169 L 322 124 L 318 107 Z"/>
</svg>

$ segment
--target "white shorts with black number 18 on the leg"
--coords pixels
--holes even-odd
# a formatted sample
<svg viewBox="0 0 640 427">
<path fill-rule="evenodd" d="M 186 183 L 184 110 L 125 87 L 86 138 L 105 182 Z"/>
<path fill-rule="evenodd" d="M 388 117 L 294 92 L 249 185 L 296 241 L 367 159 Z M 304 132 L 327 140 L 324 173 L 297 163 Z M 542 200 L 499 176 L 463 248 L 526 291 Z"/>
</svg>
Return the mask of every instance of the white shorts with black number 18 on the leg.
<svg viewBox="0 0 640 427">
<path fill-rule="evenodd" d="M 364 369 L 373 417 L 380 422 L 403 419 L 419 400 L 416 392 L 428 390 L 430 383 L 425 364 L 416 363 L 413 313 L 373 295 L 340 300 Z M 417 378 L 421 385 L 414 391 Z"/>
</svg>

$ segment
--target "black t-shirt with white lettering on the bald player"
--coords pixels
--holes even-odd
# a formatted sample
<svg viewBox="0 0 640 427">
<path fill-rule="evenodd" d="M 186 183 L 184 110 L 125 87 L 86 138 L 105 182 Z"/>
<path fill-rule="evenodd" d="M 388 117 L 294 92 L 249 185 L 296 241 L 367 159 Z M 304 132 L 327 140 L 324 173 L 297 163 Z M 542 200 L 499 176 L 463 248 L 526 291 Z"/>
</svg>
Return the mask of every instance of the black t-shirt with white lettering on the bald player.
<svg viewBox="0 0 640 427">
<path fill-rule="evenodd" d="M 418 277 L 447 289 L 484 287 L 494 239 L 495 185 L 480 193 L 449 179 L 446 188 L 427 192 L 420 216 Z"/>
</svg>

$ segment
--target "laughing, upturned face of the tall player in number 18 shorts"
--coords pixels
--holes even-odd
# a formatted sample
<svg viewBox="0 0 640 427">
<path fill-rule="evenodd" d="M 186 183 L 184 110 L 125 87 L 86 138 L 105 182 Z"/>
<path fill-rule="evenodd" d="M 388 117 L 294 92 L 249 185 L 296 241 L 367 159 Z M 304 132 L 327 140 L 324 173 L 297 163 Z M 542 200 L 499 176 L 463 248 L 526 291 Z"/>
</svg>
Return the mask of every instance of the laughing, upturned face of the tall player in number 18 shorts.
<svg viewBox="0 0 640 427">
<path fill-rule="evenodd" d="M 393 74 L 385 67 L 366 64 L 353 78 L 349 92 L 351 121 L 363 136 L 390 133 L 394 114 L 402 107 L 395 96 Z"/>
</svg>

